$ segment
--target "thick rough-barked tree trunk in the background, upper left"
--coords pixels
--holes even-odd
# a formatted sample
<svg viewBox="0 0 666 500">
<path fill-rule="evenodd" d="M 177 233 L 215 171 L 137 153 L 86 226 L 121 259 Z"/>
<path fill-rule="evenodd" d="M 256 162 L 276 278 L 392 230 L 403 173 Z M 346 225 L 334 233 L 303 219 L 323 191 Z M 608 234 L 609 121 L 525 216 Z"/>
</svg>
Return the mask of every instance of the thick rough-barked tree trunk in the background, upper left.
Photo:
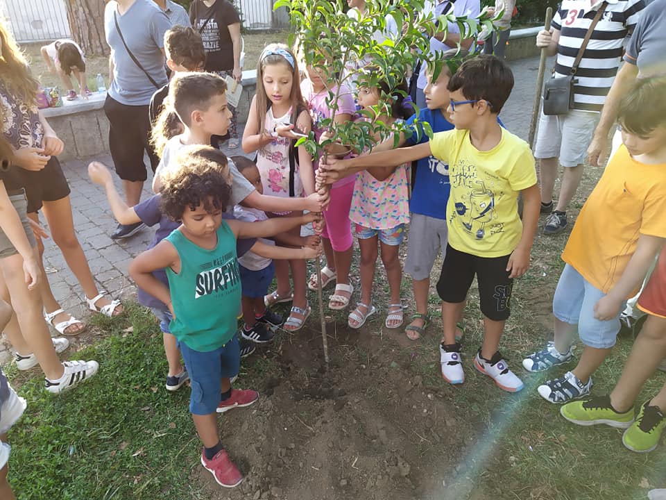
<svg viewBox="0 0 666 500">
<path fill-rule="evenodd" d="M 107 56 L 103 0 L 65 0 L 71 36 L 87 56 Z"/>
</svg>

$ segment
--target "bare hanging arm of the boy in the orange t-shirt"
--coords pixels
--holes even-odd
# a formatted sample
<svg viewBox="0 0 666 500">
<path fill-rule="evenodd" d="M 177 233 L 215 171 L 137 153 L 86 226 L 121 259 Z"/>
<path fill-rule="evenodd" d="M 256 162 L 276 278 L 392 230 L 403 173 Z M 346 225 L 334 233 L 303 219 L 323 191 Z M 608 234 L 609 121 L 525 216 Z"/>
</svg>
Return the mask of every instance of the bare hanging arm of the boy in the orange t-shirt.
<svg viewBox="0 0 666 500">
<path fill-rule="evenodd" d="M 666 243 L 666 238 L 641 234 L 638 237 L 636 251 L 629 259 L 620 279 L 611 288 L 606 297 L 601 297 L 595 304 L 595 318 L 608 321 L 617 316 L 622 302 L 645 278 L 654 259 Z"/>
</svg>

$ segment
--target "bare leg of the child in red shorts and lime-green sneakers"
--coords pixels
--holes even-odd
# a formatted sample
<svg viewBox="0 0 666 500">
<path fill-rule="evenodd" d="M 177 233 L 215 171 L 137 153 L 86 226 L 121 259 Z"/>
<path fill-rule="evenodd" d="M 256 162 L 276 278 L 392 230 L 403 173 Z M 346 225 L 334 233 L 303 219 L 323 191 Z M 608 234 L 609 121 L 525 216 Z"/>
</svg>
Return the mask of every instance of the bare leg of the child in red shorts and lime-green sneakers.
<svg viewBox="0 0 666 500">
<path fill-rule="evenodd" d="M 631 409 L 643 384 L 665 357 L 666 319 L 649 315 L 633 343 L 620 380 L 610 393 L 610 404 L 615 410 L 625 412 Z M 655 399 L 660 399 L 663 405 L 654 402 L 652 404 L 666 410 L 666 390 L 662 389 Z"/>
</svg>

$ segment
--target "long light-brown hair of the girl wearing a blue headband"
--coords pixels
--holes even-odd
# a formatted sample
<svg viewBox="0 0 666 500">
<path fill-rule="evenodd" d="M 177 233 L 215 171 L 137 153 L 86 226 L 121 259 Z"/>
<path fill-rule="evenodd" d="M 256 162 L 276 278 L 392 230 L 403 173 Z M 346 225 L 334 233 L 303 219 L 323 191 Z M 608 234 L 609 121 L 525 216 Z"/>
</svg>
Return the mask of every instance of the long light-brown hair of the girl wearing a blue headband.
<svg viewBox="0 0 666 500">
<path fill-rule="evenodd" d="M 291 61 L 286 57 L 275 53 L 275 51 L 287 51 L 291 55 Z M 289 100 L 291 101 L 291 124 L 296 125 L 296 119 L 299 113 L 305 109 L 305 101 L 303 101 L 303 94 L 300 92 L 300 72 L 298 71 L 298 61 L 294 56 L 293 51 L 285 44 L 269 44 L 266 46 L 262 55 L 259 56 L 257 63 L 257 123 L 259 124 L 258 133 L 264 131 L 266 126 L 266 111 L 271 108 L 271 101 L 266 96 L 266 89 L 264 88 L 264 69 L 266 66 L 282 64 L 291 70 L 291 94 Z"/>
</svg>

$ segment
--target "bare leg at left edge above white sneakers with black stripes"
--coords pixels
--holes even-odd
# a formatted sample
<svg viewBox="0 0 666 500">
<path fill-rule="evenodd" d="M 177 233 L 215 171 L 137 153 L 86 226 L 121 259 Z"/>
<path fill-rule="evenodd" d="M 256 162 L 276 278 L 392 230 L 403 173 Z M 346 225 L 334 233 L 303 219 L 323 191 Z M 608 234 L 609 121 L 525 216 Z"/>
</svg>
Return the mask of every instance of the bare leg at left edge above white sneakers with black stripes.
<svg viewBox="0 0 666 500">
<path fill-rule="evenodd" d="M 5 290 L 11 294 L 11 298 L 4 296 L 3 300 L 11 301 L 17 319 L 16 322 L 11 321 L 8 324 L 5 333 L 15 348 L 19 345 L 21 349 L 28 351 L 19 351 L 20 354 L 33 353 L 35 355 L 46 378 L 57 380 L 64 373 L 64 367 L 58 359 L 49 334 L 49 327 L 46 326 L 42 316 L 42 300 L 39 291 L 28 290 L 26 286 L 23 258 L 16 254 L 0 259 L 0 271 L 6 284 Z M 14 342 L 17 342 L 17 345 Z"/>
</svg>

